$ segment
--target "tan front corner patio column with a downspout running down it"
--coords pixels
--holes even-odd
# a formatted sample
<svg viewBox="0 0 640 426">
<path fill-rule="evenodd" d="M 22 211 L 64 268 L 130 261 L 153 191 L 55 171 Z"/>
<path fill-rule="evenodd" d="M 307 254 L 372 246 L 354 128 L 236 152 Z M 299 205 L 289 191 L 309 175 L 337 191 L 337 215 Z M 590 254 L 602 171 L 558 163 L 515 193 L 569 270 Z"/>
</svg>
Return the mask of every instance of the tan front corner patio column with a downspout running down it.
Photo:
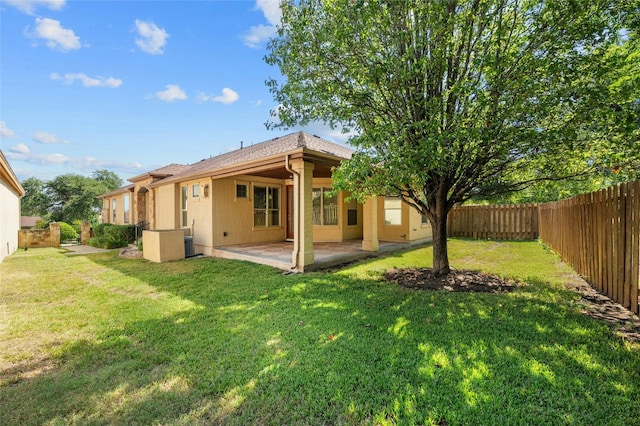
<svg viewBox="0 0 640 426">
<path fill-rule="evenodd" d="M 292 259 L 297 269 L 304 270 L 307 265 L 312 265 L 313 255 L 313 163 L 305 161 L 292 161 L 293 169 L 293 202 L 294 206 L 294 250 Z"/>
</svg>

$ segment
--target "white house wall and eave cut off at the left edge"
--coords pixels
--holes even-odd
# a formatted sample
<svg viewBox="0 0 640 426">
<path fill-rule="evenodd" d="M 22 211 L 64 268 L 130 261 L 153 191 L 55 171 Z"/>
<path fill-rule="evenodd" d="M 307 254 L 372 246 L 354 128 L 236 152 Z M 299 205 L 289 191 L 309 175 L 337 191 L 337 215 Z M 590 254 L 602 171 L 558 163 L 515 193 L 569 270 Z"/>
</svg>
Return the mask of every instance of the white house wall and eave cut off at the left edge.
<svg viewBox="0 0 640 426">
<path fill-rule="evenodd" d="M 20 198 L 24 188 L 0 151 L 0 262 L 18 248 Z"/>
</svg>

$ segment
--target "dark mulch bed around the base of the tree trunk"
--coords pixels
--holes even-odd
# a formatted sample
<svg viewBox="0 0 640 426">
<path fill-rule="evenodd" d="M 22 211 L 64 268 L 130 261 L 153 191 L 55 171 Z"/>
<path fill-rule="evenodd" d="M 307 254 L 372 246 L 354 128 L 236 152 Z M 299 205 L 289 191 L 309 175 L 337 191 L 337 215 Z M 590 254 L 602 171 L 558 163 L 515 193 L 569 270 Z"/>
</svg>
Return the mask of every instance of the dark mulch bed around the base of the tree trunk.
<svg viewBox="0 0 640 426">
<path fill-rule="evenodd" d="M 436 276 L 432 268 L 390 269 L 385 279 L 413 290 L 442 290 L 451 292 L 508 293 L 522 286 L 512 280 L 477 271 L 453 270 Z"/>
</svg>

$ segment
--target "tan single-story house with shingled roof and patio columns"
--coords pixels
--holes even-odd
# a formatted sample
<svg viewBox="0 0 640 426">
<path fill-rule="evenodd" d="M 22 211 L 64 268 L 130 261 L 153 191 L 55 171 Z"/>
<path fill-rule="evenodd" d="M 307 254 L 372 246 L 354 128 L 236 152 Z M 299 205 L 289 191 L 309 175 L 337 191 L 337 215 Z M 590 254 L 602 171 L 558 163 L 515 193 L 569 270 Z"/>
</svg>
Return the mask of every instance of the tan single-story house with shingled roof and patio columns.
<svg viewBox="0 0 640 426">
<path fill-rule="evenodd" d="M 102 221 L 183 229 L 206 255 L 216 247 L 290 240 L 297 269 L 313 263 L 314 242 L 362 240 L 363 250 L 376 251 L 379 240 L 430 237 L 431 227 L 399 198 L 363 205 L 331 192 L 332 167 L 352 153 L 297 132 L 190 166 L 173 164 L 102 195 Z"/>
</svg>

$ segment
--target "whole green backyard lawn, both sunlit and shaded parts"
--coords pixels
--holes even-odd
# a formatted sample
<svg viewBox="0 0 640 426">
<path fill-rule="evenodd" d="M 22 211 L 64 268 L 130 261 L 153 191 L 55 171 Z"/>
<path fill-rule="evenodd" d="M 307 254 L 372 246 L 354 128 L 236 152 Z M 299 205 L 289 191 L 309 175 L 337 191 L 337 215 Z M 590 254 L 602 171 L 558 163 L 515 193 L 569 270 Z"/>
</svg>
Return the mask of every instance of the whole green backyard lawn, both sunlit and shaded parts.
<svg viewBox="0 0 640 426">
<path fill-rule="evenodd" d="M 17 252 L 0 264 L 0 424 L 638 424 L 640 350 L 535 242 L 450 241 L 510 294 L 385 282 L 422 248 L 284 276 L 244 262 Z"/>
</svg>

